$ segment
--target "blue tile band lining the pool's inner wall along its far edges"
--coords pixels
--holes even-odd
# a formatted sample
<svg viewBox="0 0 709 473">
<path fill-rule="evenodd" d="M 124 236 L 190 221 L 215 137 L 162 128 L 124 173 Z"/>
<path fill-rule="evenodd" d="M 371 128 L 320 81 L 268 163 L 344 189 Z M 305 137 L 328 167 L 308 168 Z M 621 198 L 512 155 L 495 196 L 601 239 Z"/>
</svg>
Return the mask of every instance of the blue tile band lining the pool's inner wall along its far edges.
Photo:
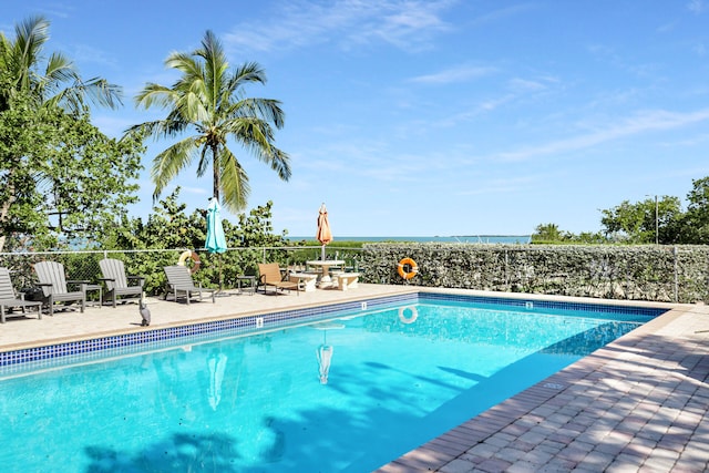
<svg viewBox="0 0 709 473">
<path fill-rule="evenodd" d="M 66 360 L 79 362 L 91 361 L 101 358 L 102 352 L 105 350 L 112 350 L 112 356 L 122 356 L 145 349 L 157 350 L 179 346 L 179 341 L 182 339 L 186 340 L 187 338 L 189 338 L 189 341 L 186 342 L 186 345 L 199 342 L 201 340 L 209 340 L 214 338 L 216 332 L 224 333 L 224 336 L 239 336 L 298 322 L 317 321 L 343 311 L 371 310 L 391 305 L 409 305 L 427 301 L 458 301 L 517 309 L 534 307 L 537 309 L 583 310 L 606 315 L 633 313 L 650 318 L 667 311 L 667 309 L 660 308 L 626 307 L 605 304 L 558 302 L 537 299 L 532 301 L 504 297 L 412 292 L 3 351 L 0 352 L 0 377 L 13 376 L 14 373 L 28 370 L 33 371 L 53 368 L 64 364 Z M 532 306 L 530 306 L 530 304 L 532 304 Z"/>
</svg>

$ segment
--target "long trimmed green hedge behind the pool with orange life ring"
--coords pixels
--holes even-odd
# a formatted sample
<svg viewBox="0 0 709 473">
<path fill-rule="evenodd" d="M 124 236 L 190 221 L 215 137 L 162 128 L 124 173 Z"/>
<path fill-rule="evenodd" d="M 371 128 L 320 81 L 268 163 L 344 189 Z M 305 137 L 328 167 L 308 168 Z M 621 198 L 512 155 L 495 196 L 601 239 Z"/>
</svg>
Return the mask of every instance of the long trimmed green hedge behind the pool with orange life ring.
<svg viewBox="0 0 709 473">
<path fill-rule="evenodd" d="M 419 273 L 404 281 L 402 258 Z M 709 300 L 709 246 L 364 244 L 363 280 L 605 299 Z"/>
</svg>

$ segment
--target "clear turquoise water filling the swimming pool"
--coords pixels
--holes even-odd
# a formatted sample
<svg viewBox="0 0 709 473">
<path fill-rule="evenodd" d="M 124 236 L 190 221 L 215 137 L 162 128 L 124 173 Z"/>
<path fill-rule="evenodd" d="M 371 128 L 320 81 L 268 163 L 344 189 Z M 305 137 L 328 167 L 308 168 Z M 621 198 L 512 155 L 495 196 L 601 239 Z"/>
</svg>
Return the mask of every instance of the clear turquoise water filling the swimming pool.
<svg viewBox="0 0 709 473">
<path fill-rule="evenodd" d="M 0 465 L 371 471 L 650 318 L 424 300 L 106 351 L 0 380 Z"/>
</svg>

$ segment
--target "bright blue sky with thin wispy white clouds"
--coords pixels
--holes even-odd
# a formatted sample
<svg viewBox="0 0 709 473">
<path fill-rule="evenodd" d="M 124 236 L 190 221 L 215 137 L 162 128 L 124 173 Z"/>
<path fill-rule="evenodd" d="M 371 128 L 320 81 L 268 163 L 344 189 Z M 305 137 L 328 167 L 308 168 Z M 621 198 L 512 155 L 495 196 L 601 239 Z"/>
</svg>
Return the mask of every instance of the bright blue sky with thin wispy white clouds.
<svg viewBox="0 0 709 473">
<path fill-rule="evenodd" d="M 31 14 L 51 21 L 48 51 L 123 86 L 121 110 L 93 111 L 112 136 L 164 116 L 133 96 L 172 84 L 165 58 L 206 30 L 233 65 L 258 62 L 268 83 L 248 93 L 282 102 L 292 178 L 240 152 L 248 208 L 273 200 L 291 236 L 315 236 L 321 203 L 336 240 L 597 232 L 600 209 L 684 200 L 709 175 L 706 0 L 24 0 L 0 30 Z M 175 184 L 206 208 L 209 176 Z"/>
</svg>

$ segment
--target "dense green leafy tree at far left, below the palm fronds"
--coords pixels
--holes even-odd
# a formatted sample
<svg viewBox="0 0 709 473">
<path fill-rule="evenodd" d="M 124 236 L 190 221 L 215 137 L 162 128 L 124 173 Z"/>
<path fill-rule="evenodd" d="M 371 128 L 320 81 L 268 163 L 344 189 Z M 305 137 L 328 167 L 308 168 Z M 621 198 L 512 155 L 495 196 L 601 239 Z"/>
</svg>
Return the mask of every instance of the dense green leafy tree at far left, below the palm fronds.
<svg viewBox="0 0 709 473">
<path fill-rule="evenodd" d="M 135 200 L 141 150 L 56 107 L 0 112 L 0 247 L 95 239 Z"/>
</svg>

